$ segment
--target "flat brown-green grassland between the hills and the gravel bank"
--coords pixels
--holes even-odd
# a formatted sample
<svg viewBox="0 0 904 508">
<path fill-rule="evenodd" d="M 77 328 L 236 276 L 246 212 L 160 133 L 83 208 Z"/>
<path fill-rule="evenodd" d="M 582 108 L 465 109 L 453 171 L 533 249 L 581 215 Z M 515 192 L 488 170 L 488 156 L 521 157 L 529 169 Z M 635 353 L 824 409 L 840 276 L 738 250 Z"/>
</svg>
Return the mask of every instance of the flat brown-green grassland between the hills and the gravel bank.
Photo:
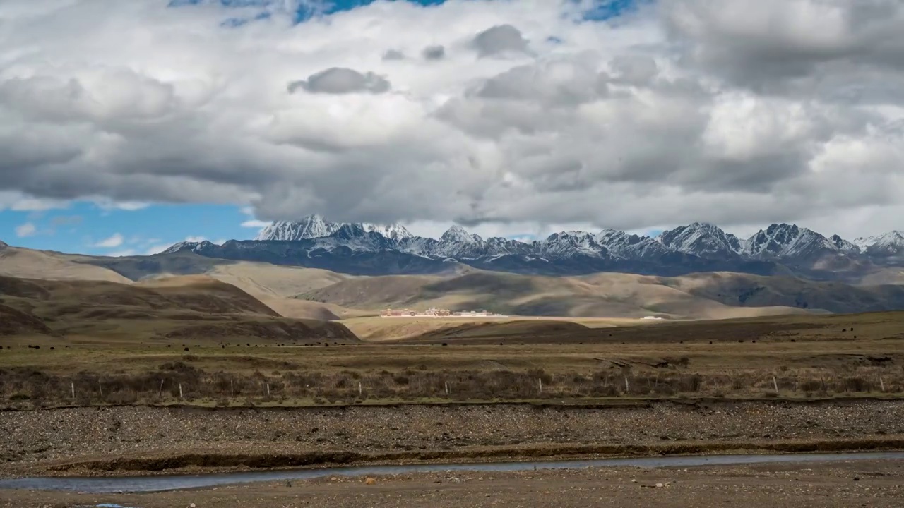
<svg viewBox="0 0 904 508">
<path fill-rule="evenodd" d="M 67 389 L 75 382 L 84 392 L 77 398 L 85 398 L 76 402 L 90 404 L 178 401 L 180 383 L 182 401 L 207 405 L 897 397 L 904 391 L 902 324 L 904 313 L 598 329 L 551 322 L 541 323 L 548 334 L 534 329 L 525 335 L 532 329 L 524 326 L 535 324 L 513 322 L 466 326 L 408 343 L 325 340 L 308 347 L 231 343 L 225 348 L 189 343 L 188 354 L 184 343 L 175 341 L 117 345 L 58 339 L 55 351 L 44 342 L 40 350 L 18 344 L 0 353 L 5 371 L 0 395 L 20 406 L 70 403 Z"/>
</svg>

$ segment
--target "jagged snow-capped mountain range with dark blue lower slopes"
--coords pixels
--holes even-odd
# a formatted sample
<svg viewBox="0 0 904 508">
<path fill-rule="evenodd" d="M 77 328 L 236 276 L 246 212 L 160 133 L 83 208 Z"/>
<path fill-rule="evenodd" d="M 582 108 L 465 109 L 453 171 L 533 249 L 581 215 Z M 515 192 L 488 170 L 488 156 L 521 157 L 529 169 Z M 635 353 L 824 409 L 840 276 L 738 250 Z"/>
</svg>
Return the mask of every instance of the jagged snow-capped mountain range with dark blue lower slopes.
<svg viewBox="0 0 904 508">
<path fill-rule="evenodd" d="M 891 231 L 848 241 L 783 223 L 739 239 L 712 224 L 694 222 L 654 238 L 602 230 L 563 231 L 534 241 L 484 239 L 453 226 L 432 239 L 413 235 L 400 224 L 331 222 L 314 215 L 302 221 L 274 222 L 255 240 L 230 240 L 221 246 L 182 242 L 165 254 L 184 252 L 369 275 L 436 272 L 458 262 L 549 275 L 728 270 L 831 279 L 838 272 L 904 266 L 904 234 Z"/>
</svg>

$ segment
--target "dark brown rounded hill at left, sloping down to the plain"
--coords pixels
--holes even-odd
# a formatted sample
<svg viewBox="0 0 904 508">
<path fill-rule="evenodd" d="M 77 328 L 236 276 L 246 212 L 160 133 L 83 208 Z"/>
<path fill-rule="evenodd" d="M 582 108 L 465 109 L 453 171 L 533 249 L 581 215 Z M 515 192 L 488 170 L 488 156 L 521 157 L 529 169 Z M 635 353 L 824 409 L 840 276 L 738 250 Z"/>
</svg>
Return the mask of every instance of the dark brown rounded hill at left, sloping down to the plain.
<svg viewBox="0 0 904 508">
<path fill-rule="evenodd" d="M 289 319 L 205 276 L 119 284 L 0 277 L 0 334 L 82 342 L 356 342 L 344 325 Z"/>
</svg>

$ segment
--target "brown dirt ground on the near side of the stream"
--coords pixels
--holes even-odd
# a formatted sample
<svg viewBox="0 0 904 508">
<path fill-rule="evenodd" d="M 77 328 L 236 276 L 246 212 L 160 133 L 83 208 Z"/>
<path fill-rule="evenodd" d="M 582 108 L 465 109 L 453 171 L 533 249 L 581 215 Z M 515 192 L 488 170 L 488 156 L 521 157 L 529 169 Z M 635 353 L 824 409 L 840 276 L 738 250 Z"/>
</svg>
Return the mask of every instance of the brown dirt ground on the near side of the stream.
<svg viewBox="0 0 904 508">
<path fill-rule="evenodd" d="M 140 508 L 270 508 L 330 506 L 399 508 L 462 506 L 584 508 L 769 506 L 825 508 L 904 504 L 901 461 L 763 464 L 688 469 L 581 469 L 523 473 L 325 478 L 231 485 L 155 494 L 64 494 L 0 491 L 0 506 L 71 508 L 117 503 Z M 661 485 L 661 486 L 657 486 Z"/>
</svg>

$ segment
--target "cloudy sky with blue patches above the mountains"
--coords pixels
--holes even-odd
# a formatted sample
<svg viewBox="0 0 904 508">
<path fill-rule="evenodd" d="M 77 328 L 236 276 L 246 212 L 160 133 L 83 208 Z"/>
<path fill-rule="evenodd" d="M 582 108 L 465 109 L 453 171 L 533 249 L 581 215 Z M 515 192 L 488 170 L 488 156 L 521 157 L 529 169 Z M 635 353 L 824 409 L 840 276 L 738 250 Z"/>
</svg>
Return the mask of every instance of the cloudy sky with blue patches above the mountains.
<svg viewBox="0 0 904 508">
<path fill-rule="evenodd" d="M 3 0 L 0 240 L 904 229 L 898 0 Z"/>
</svg>

